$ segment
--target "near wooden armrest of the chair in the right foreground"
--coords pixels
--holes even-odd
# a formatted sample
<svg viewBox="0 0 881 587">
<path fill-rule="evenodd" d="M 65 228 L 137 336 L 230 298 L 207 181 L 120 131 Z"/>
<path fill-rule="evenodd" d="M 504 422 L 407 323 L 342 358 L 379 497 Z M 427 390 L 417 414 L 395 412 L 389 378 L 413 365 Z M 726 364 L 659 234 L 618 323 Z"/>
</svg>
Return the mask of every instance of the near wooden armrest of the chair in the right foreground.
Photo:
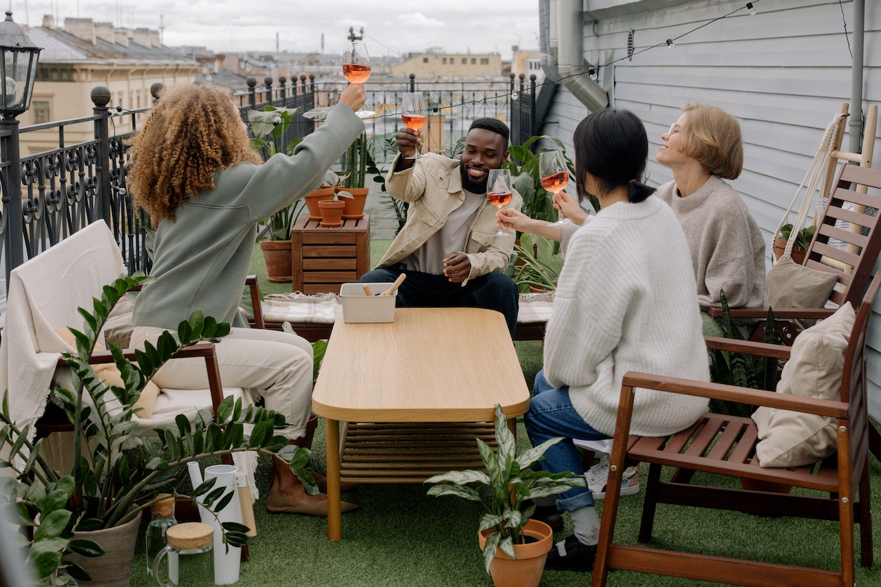
<svg viewBox="0 0 881 587">
<path fill-rule="evenodd" d="M 791 410 L 793 412 L 814 413 L 819 416 L 843 419 L 848 417 L 848 404 L 830 399 L 803 398 L 775 391 L 751 390 L 737 385 L 707 383 L 678 377 L 649 375 L 628 371 L 621 382 L 621 393 L 627 388 L 640 387 L 648 390 L 670 391 L 699 398 L 722 399 L 739 404 L 766 405 L 767 407 Z"/>
</svg>

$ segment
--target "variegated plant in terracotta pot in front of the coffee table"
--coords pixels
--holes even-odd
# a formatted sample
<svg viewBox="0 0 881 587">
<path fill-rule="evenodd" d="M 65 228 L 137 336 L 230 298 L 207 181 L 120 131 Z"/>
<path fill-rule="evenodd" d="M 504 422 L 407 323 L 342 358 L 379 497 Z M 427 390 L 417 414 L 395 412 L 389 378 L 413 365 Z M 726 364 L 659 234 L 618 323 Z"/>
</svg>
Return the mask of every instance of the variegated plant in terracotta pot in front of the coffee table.
<svg viewBox="0 0 881 587">
<path fill-rule="evenodd" d="M 433 484 L 429 495 L 458 495 L 480 502 L 485 514 L 478 526 L 486 572 L 496 587 L 536 587 L 541 581 L 544 559 L 552 546 L 551 527 L 531 519 L 536 505 L 524 508 L 524 501 L 562 494 L 573 487 L 586 487 L 584 476 L 572 472 L 551 473 L 533 468 L 544 451 L 563 440 L 552 438 L 515 455 L 515 437 L 507 427 L 501 406 L 495 406 L 496 452 L 477 439 L 483 471 L 452 471 L 426 479 Z M 513 571 L 513 575 L 508 575 Z"/>
</svg>

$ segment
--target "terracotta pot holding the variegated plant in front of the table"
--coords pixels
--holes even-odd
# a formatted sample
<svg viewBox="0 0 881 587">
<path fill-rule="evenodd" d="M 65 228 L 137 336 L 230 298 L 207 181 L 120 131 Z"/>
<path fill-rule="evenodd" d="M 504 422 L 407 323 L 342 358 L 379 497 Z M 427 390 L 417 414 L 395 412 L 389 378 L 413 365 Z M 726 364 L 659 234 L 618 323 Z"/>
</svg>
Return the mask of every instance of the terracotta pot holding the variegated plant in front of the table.
<svg viewBox="0 0 881 587">
<path fill-rule="evenodd" d="M 551 526 L 544 524 L 544 522 L 529 520 L 523 532 L 536 541 L 528 544 L 515 544 L 516 559 L 512 559 L 501 551 L 496 551 L 495 558 L 490 563 L 490 575 L 495 587 L 537 587 L 541 582 L 544 560 L 553 546 L 553 531 Z M 481 550 L 486 544 L 486 537 L 491 533 L 492 529 L 478 533 Z"/>
</svg>

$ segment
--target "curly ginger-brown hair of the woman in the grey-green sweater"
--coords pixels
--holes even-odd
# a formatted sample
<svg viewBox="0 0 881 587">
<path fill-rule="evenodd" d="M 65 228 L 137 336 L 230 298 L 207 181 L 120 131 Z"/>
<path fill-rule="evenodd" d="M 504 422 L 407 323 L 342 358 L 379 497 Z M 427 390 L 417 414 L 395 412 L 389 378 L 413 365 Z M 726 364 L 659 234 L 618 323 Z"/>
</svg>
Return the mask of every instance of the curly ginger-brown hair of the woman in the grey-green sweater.
<svg viewBox="0 0 881 587">
<path fill-rule="evenodd" d="M 153 226 L 174 220 L 188 197 L 215 187 L 214 174 L 241 161 L 263 162 L 251 149 L 248 131 L 223 90 L 188 84 L 163 93 L 130 139 L 127 182 L 135 204 L 150 213 Z"/>
</svg>

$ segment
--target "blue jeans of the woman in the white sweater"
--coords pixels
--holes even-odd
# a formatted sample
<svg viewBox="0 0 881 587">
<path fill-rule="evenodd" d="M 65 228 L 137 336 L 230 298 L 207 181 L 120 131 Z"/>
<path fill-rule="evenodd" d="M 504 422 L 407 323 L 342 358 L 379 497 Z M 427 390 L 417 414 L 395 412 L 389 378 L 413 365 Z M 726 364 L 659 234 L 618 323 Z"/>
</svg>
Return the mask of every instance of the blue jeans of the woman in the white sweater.
<svg viewBox="0 0 881 587">
<path fill-rule="evenodd" d="M 581 440 L 603 440 L 609 438 L 597 432 L 585 422 L 569 400 L 569 387 L 556 388 L 544 378 L 544 369 L 536 375 L 536 383 L 529 400 L 529 412 L 524 416 L 526 433 L 532 446 L 551 440 L 557 436 L 564 439 L 544 451 L 542 468 L 549 472 L 571 471 L 575 475 L 584 474 L 581 452 L 575 447 L 573 438 Z M 565 494 L 557 496 L 557 507 L 563 511 L 574 511 L 594 505 L 594 495 L 588 487 L 573 487 Z"/>
</svg>

